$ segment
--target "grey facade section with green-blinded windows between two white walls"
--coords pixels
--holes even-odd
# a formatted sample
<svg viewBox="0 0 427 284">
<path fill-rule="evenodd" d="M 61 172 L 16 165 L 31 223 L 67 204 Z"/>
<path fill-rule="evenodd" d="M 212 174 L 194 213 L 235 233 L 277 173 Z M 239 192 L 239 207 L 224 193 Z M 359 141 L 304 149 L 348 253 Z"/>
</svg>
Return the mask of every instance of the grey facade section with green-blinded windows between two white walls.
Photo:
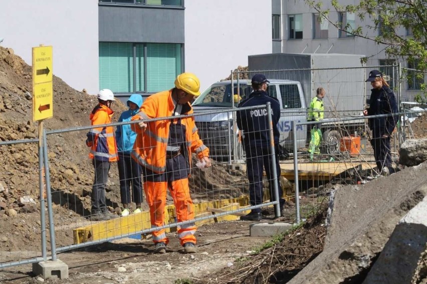
<svg viewBox="0 0 427 284">
<path fill-rule="evenodd" d="M 183 1 L 99 1 L 100 88 L 155 92 L 184 69 Z"/>
</svg>

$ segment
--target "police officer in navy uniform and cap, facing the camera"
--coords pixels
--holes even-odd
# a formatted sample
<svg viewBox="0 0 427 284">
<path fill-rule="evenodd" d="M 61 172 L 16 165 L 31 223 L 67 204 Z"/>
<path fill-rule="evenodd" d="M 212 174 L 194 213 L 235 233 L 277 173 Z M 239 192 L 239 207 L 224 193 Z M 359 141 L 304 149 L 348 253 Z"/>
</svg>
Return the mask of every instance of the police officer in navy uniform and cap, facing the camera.
<svg viewBox="0 0 427 284">
<path fill-rule="evenodd" d="M 371 82 L 371 97 L 369 108 L 363 111 L 364 115 L 397 113 L 396 98 L 383 74 L 372 70 L 366 81 Z M 369 128 L 372 130 L 371 145 L 374 150 L 378 170 L 383 174 L 393 173 L 390 155 L 390 136 L 396 126 L 397 116 L 369 118 Z"/>
</svg>

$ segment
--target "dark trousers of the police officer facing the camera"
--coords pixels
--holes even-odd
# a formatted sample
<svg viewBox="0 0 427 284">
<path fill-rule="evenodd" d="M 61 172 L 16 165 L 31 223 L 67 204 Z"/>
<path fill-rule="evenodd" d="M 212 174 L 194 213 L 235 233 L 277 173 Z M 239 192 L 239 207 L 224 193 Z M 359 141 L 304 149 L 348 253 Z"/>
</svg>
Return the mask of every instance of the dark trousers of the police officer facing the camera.
<svg viewBox="0 0 427 284">
<path fill-rule="evenodd" d="M 379 127 L 372 129 L 371 145 L 374 150 L 375 162 L 379 171 L 381 171 L 384 166 L 388 169 L 392 169 L 390 137 L 383 138 L 383 134 L 384 130 Z"/>
</svg>

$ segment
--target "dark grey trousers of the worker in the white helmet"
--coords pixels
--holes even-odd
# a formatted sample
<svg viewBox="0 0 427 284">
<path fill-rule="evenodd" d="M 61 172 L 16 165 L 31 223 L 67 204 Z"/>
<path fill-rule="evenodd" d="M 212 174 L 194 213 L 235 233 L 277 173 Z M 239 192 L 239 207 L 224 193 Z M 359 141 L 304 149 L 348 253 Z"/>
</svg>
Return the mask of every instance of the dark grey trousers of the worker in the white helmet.
<svg viewBox="0 0 427 284">
<path fill-rule="evenodd" d="M 92 185 L 92 213 L 98 211 L 105 212 L 107 206 L 105 204 L 105 185 L 108 181 L 108 171 L 110 170 L 110 162 L 102 160 L 92 160 L 95 167 L 95 180 Z"/>
</svg>

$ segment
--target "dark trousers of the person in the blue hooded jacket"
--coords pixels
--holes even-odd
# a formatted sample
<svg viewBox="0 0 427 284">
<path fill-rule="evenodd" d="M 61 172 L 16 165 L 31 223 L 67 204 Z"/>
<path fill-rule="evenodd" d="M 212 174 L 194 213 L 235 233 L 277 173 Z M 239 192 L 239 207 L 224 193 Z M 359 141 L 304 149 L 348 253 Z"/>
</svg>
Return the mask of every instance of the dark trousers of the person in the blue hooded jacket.
<svg viewBox="0 0 427 284">
<path fill-rule="evenodd" d="M 130 154 L 119 152 L 118 160 L 120 179 L 120 199 L 122 204 L 142 203 L 142 167 L 130 157 Z M 132 185 L 132 199 L 130 195 Z"/>
</svg>

